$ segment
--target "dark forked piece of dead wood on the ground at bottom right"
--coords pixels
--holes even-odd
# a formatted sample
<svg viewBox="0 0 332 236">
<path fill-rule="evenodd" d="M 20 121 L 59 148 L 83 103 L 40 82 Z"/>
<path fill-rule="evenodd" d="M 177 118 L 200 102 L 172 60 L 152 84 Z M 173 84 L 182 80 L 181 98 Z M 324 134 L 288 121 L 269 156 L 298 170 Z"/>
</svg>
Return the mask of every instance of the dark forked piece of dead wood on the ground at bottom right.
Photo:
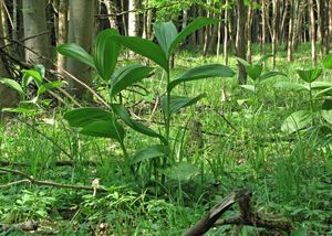
<svg viewBox="0 0 332 236">
<path fill-rule="evenodd" d="M 255 212 L 250 204 L 251 196 L 252 193 L 248 190 L 241 190 L 237 193 L 227 195 L 221 203 L 214 206 L 209 213 L 189 228 L 184 236 L 204 235 L 209 228 L 222 225 L 236 225 L 239 228 L 243 225 L 248 225 L 267 229 L 278 229 L 287 233 L 292 232 L 293 225 L 288 218 L 263 215 Z M 239 204 L 240 214 L 231 218 L 218 219 L 236 202 Z"/>
</svg>

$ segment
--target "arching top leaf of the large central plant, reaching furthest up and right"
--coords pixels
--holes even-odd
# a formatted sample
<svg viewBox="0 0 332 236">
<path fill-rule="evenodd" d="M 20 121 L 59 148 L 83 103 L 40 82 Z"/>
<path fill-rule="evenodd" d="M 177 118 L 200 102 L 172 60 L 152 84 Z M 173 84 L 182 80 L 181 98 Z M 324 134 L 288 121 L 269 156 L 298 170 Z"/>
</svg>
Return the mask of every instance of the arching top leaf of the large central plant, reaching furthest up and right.
<svg viewBox="0 0 332 236">
<path fill-rule="evenodd" d="M 189 23 L 177 36 L 176 39 L 173 41 L 169 50 L 168 50 L 168 54 L 170 55 L 173 53 L 173 51 L 175 50 L 175 47 L 183 41 L 186 39 L 186 36 L 190 35 L 191 33 L 194 33 L 195 31 L 209 25 L 209 24 L 215 24 L 218 23 L 219 20 L 218 19 L 212 19 L 212 18 L 197 18 L 195 19 L 191 23 Z"/>
</svg>

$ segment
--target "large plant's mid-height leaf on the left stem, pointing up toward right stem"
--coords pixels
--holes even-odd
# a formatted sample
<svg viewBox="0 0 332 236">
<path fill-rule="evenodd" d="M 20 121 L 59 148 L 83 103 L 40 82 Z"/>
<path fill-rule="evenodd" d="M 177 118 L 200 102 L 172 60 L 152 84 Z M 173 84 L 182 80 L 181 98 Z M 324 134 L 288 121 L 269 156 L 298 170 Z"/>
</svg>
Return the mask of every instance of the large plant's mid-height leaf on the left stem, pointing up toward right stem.
<svg viewBox="0 0 332 236">
<path fill-rule="evenodd" d="M 111 95 L 114 96 L 123 89 L 145 78 L 154 68 L 145 65 L 124 66 L 112 76 Z"/>
</svg>

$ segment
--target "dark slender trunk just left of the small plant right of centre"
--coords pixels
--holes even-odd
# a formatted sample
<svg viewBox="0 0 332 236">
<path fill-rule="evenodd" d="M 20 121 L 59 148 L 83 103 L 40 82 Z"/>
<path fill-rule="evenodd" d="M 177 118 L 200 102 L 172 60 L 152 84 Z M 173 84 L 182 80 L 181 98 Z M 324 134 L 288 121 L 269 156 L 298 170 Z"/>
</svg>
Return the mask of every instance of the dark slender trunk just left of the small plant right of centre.
<svg viewBox="0 0 332 236">
<path fill-rule="evenodd" d="M 238 19 L 237 19 L 237 39 L 236 39 L 236 52 L 237 56 L 246 60 L 246 6 L 243 0 L 237 0 L 238 3 Z M 242 64 L 239 64 L 239 84 L 247 83 L 247 72 Z"/>
</svg>

